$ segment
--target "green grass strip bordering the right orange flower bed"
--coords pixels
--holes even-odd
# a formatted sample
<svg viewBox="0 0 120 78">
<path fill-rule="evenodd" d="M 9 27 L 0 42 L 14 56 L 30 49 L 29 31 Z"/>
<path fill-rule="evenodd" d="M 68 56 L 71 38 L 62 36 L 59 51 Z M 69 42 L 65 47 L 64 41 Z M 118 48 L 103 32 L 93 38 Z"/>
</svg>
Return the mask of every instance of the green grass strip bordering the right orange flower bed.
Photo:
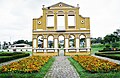
<svg viewBox="0 0 120 78">
<path fill-rule="evenodd" d="M 109 73 L 90 73 L 83 69 L 80 64 L 72 58 L 69 58 L 71 64 L 77 70 L 80 78 L 120 78 L 120 72 L 109 72 Z"/>
</svg>

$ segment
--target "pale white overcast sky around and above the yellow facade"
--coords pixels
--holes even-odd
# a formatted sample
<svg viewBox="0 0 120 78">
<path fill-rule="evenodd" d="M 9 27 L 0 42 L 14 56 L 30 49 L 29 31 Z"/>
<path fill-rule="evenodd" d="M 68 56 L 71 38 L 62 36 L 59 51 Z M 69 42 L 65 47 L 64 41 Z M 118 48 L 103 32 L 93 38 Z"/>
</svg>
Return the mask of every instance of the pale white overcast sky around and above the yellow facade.
<svg viewBox="0 0 120 78">
<path fill-rule="evenodd" d="M 90 17 L 91 37 L 104 37 L 120 29 L 120 0 L 0 0 L 0 41 L 32 40 L 32 19 L 42 16 L 42 5 L 58 2 L 80 6 Z"/>
</svg>

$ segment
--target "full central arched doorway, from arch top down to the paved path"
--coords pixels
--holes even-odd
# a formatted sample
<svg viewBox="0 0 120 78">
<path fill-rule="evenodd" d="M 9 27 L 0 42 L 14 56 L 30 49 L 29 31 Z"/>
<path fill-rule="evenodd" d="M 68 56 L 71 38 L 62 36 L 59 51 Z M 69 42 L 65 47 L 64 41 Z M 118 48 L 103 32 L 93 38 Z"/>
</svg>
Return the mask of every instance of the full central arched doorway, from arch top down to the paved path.
<svg viewBox="0 0 120 78">
<path fill-rule="evenodd" d="M 65 42 L 64 36 L 60 35 L 58 37 L 58 47 L 60 48 L 59 49 L 59 55 L 60 56 L 64 56 L 64 47 L 65 47 L 64 42 Z"/>
</svg>

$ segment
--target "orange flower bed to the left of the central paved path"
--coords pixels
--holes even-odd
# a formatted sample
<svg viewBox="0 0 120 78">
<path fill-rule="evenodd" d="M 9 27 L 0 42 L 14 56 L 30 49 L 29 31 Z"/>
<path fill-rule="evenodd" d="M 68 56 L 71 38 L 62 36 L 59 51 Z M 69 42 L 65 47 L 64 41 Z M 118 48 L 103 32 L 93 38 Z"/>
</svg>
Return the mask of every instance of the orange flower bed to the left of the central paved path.
<svg viewBox="0 0 120 78">
<path fill-rule="evenodd" d="M 50 56 L 31 56 L 18 62 L 12 62 L 0 68 L 1 72 L 38 72 L 39 69 L 50 59 Z"/>
</svg>

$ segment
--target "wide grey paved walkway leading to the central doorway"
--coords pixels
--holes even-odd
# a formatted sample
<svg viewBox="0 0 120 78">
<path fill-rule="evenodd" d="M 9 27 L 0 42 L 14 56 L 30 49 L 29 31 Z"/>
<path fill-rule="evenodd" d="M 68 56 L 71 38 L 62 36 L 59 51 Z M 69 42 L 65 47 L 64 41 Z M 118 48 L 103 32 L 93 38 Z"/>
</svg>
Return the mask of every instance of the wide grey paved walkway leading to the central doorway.
<svg viewBox="0 0 120 78">
<path fill-rule="evenodd" d="M 51 69 L 44 78 L 80 78 L 67 56 L 56 56 Z"/>
</svg>

